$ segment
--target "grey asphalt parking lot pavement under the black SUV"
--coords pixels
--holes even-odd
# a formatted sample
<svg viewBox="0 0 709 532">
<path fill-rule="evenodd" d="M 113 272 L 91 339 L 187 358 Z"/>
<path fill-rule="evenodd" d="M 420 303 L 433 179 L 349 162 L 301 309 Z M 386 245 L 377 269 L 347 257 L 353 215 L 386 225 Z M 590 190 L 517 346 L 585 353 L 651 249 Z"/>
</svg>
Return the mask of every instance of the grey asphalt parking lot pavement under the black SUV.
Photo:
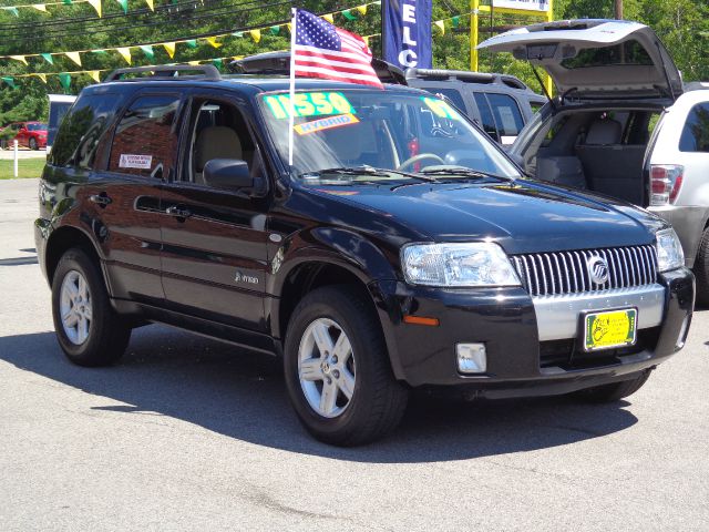
<svg viewBox="0 0 709 532">
<path fill-rule="evenodd" d="M 364 448 L 312 440 L 276 364 L 162 326 L 70 365 L 0 181 L 0 530 L 708 530 L 709 313 L 628 400 L 415 395 Z"/>
</svg>

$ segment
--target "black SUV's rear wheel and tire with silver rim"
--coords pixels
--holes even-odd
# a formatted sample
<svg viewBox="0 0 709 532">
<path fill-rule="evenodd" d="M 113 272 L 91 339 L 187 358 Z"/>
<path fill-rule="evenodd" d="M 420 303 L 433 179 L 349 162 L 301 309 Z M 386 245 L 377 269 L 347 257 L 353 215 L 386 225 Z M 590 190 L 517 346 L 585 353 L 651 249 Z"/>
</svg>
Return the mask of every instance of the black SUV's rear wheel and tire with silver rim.
<svg viewBox="0 0 709 532">
<path fill-rule="evenodd" d="M 80 248 L 69 249 L 59 260 L 52 317 L 59 345 L 79 366 L 115 362 L 131 338 L 131 328 L 111 307 L 99 265 Z"/>
</svg>

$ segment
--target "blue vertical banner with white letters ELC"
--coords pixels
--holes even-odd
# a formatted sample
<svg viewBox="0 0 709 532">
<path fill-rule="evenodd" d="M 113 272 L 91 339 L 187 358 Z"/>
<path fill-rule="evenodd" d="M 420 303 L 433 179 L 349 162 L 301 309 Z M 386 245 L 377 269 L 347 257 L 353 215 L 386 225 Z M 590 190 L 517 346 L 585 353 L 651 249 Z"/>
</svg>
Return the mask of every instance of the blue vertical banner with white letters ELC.
<svg viewBox="0 0 709 532">
<path fill-rule="evenodd" d="M 383 0 L 384 61 L 432 68 L 431 0 Z"/>
</svg>

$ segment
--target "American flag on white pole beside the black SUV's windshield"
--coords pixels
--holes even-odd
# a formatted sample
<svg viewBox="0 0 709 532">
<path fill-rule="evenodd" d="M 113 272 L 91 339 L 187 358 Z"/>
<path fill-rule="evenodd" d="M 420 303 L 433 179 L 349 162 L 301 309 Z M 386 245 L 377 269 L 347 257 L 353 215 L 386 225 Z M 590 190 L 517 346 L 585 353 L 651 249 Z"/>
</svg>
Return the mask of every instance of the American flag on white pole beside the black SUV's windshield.
<svg viewBox="0 0 709 532">
<path fill-rule="evenodd" d="M 294 28 L 295 75 L 382 89 L 372 69 L 372 52 L 361 37 L 302 9 L 296 10 Z"/>
</svg>

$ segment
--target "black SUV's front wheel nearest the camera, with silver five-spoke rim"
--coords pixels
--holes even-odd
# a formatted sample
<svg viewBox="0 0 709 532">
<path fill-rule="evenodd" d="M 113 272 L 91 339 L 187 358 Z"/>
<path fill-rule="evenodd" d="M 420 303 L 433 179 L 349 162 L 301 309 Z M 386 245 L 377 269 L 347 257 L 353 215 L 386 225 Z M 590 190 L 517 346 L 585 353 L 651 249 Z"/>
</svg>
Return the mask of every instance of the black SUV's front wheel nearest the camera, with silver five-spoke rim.
<svg viewBox="0 0 709 532">
<path fill-rule="evenodd" d="M 394 379 L 381 326 L 351 287 L 318 288 L 302 298 L 288 325 L 284 369 L 298 418 L 326 443 L 380 439 L 405 410 L 409 391 Z"/>
</svg>

